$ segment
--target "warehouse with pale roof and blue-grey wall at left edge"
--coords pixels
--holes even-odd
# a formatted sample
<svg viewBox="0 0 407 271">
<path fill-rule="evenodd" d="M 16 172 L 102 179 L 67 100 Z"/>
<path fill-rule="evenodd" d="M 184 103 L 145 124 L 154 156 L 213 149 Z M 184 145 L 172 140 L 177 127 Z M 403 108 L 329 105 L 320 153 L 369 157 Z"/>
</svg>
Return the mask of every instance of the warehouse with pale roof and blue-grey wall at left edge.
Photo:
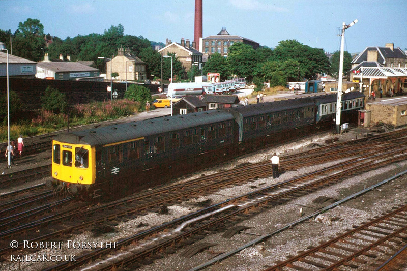
<svg viewBox="0 0 407 271">
<path fill-rule="evenodd" d="M 37 63 L 9 54 L 9 76 L 13 78 L 35 78 Z M 7 76 L 7 53 L 0 52 L 0 77 Z"/>
</svg>

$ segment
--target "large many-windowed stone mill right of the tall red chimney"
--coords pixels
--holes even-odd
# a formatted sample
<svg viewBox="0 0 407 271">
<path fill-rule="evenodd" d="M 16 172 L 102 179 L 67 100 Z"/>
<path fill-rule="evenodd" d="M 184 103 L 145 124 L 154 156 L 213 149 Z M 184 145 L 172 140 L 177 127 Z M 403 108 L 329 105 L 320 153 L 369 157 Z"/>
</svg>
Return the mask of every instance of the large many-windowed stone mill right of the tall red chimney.
<svg viewBox="0 0 407 271">
<path fill-rule="evenodd" d="M 253 47 L 254 50 L 260 46 L 260 44 L 255 41 L 238 35 L 230 35 L 226 28 L 222 27 L 222 30 L 218 33 L 218 35 L 212 35 L 202 39 L 202 42 L 200 43 L 202 48 L 199 48 L 199 51 L 203 52 L 205 55 L 220 53 L 222 56 L 227 57 L 229 47 L 235 42 L 243 42 L 244 44 L 248 44 Z"/>
</svg>

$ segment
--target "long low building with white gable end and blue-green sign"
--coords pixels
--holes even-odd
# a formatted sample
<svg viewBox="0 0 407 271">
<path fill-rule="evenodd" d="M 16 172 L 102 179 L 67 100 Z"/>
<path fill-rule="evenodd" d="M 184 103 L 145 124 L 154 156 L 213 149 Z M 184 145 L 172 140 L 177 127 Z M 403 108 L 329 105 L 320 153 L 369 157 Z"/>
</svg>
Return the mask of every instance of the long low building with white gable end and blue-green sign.
<svg viewBox="0 0 407 271">
<path fill-rule="evenodd" d="M 44 60 L 37 63 L 36 77 L 50 80 L 94 79 L 96 81 L 103 81 L 98 69 L 79 62 L 71 62 L 69 56 L 67 58 L 67 61 L 65 61 L 61 54 L 60 59 L 50 60 L 46 53 Z"/>
</svg>

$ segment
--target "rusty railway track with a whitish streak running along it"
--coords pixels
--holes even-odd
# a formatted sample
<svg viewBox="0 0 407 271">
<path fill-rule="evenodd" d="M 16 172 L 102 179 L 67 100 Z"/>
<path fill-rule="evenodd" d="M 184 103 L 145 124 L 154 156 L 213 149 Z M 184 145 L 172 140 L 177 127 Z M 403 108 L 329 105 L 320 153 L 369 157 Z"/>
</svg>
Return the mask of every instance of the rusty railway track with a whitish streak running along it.
<svg viewBox="0 0 407 271">
<path fill-rule="evenodd" d="M 229 228 L 236 221 L 260 212 L 267 206 L 285 203 L 337 183 L 344 177 L 403 161 L 407 159 L 407 155 L 402 154 L 404 150 L 389 150 L 386 154 L 341 163 L 330 169 L 313 172 L 231 198 L 121 240 L 118 242 L 119 250 L 96 249 L 76 257 L 75 262 L 64 262 L 46 270 L 71 270 L 78 266 L 92 270 L 111 270 L 123 266 L 135 268 L 146 259 L 153 260 L 163 257 L 163 252 L 175 251 L 174 246 L 193 243 L 206 230 L 216 231 L 220 226 Z M 386 158 L 389 159 L 386 160 Z M 326 176 L 329 171 L 331 175 Z M 88 265 L 83 266 L 83 264 Z"/>
</svg>

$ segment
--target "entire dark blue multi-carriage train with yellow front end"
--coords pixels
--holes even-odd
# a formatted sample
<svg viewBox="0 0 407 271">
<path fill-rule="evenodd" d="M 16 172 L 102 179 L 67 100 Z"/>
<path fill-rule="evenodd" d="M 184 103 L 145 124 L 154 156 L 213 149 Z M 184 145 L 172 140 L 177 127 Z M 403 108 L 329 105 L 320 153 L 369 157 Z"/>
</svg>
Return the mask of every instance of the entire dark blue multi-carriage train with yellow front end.
<svg viewBox="0 0 407 271">
<path fill-rule="evenodd" d="M 63 133 L 52 142 L 52 184 L 75 194 L 134 191 L 273 142 L 330 126 L 336 94 L 209 110 Z M 355 122 L 364 95 L 342 97 Z"/>
</svg>

